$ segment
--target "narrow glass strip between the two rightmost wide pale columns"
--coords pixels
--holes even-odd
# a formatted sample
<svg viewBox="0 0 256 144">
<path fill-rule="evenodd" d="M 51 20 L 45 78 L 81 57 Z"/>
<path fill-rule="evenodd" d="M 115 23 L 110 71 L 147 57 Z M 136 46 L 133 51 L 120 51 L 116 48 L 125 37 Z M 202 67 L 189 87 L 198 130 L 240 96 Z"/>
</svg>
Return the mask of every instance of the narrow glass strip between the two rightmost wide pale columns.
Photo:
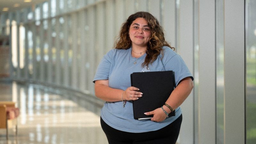
<svg viewBox="0 0 256 144">
<path fill-rule="evenodd" d="M 216 142 L 224 143 L 224 1 L 216 0 Z"/>
</svg>

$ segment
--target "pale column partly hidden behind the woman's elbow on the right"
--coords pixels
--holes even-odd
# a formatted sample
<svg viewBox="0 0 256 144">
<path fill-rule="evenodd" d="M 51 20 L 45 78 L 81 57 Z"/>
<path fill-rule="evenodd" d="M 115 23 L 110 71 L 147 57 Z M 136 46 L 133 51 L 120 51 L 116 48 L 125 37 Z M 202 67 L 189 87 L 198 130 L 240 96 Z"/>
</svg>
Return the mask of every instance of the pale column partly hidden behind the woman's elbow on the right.
<svg viewBox="0 0 256 144">
<path fill-rule="evenodd" d="M 180 1 L 180 30 L 177 49 L 193 75 L 193 0 Z M 213 72 L 214 73 L 214 72 Z M 190 93 L 181 105 L 183 120 L 180 128 L 179 143 L 193 143 L 194 138 L 194 96 Z"/>
</svg>

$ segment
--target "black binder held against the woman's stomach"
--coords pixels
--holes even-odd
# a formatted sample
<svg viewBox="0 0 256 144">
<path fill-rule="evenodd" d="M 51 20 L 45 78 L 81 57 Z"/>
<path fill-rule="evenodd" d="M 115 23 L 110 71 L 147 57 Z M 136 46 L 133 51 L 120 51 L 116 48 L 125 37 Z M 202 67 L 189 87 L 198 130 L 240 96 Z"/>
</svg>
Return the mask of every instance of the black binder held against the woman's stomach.
<svg viewBox="0 0 256 144">
<path fill-rule="evenodd" d="M 161 108 L 174 89 L 172 71 L 134 72 L 131 74 L 131 85 L 140 89 L 143 95 L 133 101 L 134 119 L 148 119 L 153 115 L 145 112 Z M 169 114 L 175 116 L 175 110 Z"/>
</svg>

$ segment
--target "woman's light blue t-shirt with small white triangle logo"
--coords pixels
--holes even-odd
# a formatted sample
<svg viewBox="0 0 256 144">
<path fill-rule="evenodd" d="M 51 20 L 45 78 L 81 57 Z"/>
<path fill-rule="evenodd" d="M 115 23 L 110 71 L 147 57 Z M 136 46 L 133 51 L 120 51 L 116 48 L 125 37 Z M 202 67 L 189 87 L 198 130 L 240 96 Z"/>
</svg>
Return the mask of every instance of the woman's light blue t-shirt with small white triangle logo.
<svg viewBox="0 0 256 144">
<path fill-rule="evenodd" d="M 127 50 L 110 50 L 101 60 L 93 82 L 96 80 L 107 80 L 109 87 L 115 89 L 126 90 L 131 86 L 130 75 L 133 72 L 148 72 L 148 71 L 164 71 L 172 70 L 175 76 L 175 84 L 178 85 L 180 80 L 192 75 L 189 72 L 186 64 L 180 56 L 171 48 L 163 47 L 163 60 L 160 55 L 157 59 L 149 64 L 148 67 L 142 67 L 146 53 L 140 58 L 134 58 L 131 54 L 131 48 Z M 161 55 L 162 57 L 162 55 Z M 136 64 L 134 62 L 136 61 Z M 121 95 L 120 95 L 121 100 Z M 164 104 L 163 104 L 164 105 Z M 166 118 L 162 122 L 153 122 L 150 119 L 136 120 L 133 118 L 132 101 L 127 101 L 123 108 L 122 101 L 105 102 L 101 109 L 100 116 L 109 126 L 124 132 L 150 132 L 159 130 L 168 124 L 171 124 L 181 115 L 181 109 L 176 108 L 176 116 Z"/>
</svg>

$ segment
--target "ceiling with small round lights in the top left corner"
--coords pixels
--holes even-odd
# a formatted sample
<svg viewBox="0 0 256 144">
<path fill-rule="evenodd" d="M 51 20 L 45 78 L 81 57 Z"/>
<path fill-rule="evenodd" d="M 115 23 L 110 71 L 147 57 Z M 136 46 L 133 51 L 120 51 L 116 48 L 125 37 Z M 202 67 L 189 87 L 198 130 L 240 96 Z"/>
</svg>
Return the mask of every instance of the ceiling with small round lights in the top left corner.
<svg viewBox="0 0 256 144">
<path fill-rule="evenodd" d="M 7 12 L 12 12 L 15 10 L 20 10 L 22 8 L 35 6 L 36 4 L 43 3 L 47 0 L 30 0 L 31 2 L 24 2 L 28 0 L 0 0 L 0 13 L 4 12 L 3 8 L 9 8 Z M 18 7 L 14 7 L 14 5 L 18 5 Z"/>
</svg>

